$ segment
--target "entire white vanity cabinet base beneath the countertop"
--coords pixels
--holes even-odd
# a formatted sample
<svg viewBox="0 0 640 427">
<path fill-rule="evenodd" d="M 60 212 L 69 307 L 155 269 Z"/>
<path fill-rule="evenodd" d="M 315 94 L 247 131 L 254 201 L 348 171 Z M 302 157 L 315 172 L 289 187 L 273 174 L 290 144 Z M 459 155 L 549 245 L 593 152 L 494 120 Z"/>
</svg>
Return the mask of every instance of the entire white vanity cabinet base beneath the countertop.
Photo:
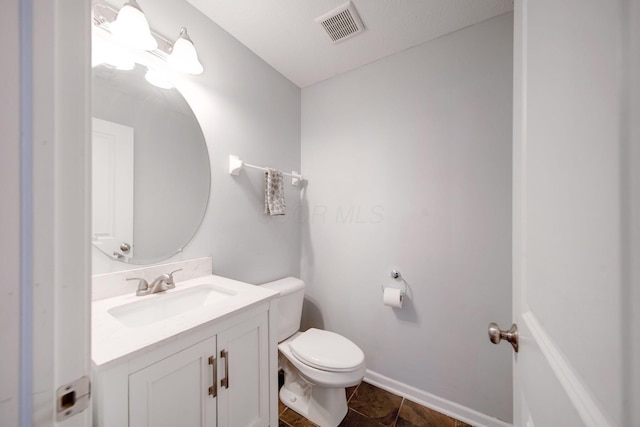
<svg viewBox="0 0 640 427">
<path fill-rule="evenodd" d="M 265 298 L 106 363 L 94 358 L 94 427 L 276 427 L 276 310 Z"/>
</svg>

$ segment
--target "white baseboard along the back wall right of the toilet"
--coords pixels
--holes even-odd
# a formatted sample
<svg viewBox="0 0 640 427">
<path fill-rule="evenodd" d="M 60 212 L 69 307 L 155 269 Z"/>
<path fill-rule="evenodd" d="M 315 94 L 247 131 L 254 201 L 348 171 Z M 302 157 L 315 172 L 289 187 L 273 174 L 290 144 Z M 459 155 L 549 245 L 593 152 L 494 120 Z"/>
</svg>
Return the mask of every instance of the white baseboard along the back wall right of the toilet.
<svg viewBox="0 0 640 427">
<path fill-rule="evenodd" d="M 489 417 L 488 415 L 474 411 L 466 406 L 451 402 L 450 400 L 443 399 L 431 393 L 427 393 L 426 391 L 418 390 L 415 387 L 392 380 L 391 378 L 380 375 L 377 372 L 370 371 L 369 369 L 367 369 L 364 380 L 369 384 L 380 387 L 390 393 L 406 397 L 413 402 L 419 403 L 420 405 L 431 408 L 434 411 L 441 412 L 457 420 L 464 421 L 474 427 L 512 427 L 511 424 L 500 421 L 497 418 Z"/>
</svg>

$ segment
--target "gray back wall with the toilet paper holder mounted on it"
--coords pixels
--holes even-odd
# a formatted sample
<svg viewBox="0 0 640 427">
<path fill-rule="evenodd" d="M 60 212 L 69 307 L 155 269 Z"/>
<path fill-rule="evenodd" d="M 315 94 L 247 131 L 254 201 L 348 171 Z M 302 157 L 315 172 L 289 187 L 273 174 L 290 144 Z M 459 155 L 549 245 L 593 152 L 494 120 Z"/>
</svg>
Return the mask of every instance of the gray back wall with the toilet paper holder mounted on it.
<svg viewBox="0 0 640 427">
<path fill-rule="evenodd" d="M 302 91 L 305 326 L 504 421 L 511 351 L 487 324 L 511 324 L 512 32 L 502 15 Z"/>
</svg>

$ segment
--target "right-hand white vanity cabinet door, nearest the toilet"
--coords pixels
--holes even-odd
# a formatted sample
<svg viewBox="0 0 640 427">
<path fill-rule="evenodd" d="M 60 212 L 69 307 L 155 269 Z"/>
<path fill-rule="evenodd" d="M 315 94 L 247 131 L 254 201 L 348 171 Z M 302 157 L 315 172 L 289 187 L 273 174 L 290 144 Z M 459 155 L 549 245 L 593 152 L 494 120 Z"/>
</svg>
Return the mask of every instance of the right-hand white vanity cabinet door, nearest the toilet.
<svg viewBox="0 0 640 427">
<path fill-rule="evenodd" d="M 218 427 L 269 425 L 268 336 L 267 313 L 218 334 Z"/>
</svg>

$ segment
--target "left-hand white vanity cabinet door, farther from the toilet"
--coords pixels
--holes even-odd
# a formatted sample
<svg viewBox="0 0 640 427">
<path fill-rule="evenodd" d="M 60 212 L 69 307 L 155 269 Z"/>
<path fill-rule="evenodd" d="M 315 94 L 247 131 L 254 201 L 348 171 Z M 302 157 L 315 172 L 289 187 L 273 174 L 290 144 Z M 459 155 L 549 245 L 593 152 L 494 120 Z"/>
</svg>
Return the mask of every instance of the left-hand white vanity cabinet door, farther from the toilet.
<svg viewBox="0 0 640 427">
<path fill-rule="evenodd" d="M 129 426 L 214 427 L 215 352 L 211 338 L 129 375 Z"/>
</svg>

